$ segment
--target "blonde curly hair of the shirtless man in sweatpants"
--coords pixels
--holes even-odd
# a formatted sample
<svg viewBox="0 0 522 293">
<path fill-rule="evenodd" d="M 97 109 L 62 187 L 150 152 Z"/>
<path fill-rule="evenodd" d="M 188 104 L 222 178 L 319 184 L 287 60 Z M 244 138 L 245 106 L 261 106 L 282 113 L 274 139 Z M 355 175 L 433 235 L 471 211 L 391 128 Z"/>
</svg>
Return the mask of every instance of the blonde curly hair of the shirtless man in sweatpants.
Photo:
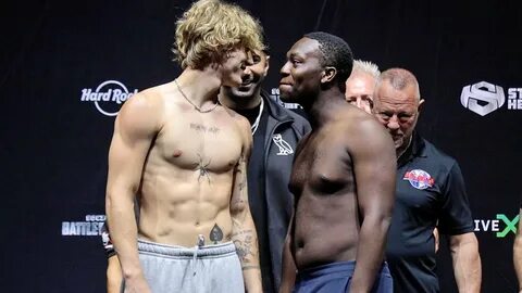
<svg viewBox="0 0 522 293">
<path fill-rule="evenodd" d="M 176 22 L 173 52 L 183 69 L 222 63 L 234 49 L 263 50 L 259 21 L 236 4 L 200 0 Z"/>
</svg>

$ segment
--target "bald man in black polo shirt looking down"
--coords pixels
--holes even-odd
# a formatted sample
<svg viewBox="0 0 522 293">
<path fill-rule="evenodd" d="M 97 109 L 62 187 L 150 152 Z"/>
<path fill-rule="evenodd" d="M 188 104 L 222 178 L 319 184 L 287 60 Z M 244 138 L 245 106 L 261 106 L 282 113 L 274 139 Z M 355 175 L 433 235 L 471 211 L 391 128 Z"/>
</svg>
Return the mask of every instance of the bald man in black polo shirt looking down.
<svg viewBox="0 0 522 293">
<path fill-rule="evenodd" d="M 391 135 L 398 157 L 386 247 L 394 292 L 439 292 L 436 226 L 449 237 L 459 292 L 480 292 L 478 244 L 459 165 L 413 131 L 423 102 L 413 74 L 401 68 L 382 73 L 373 113 Z"/>
</svg>

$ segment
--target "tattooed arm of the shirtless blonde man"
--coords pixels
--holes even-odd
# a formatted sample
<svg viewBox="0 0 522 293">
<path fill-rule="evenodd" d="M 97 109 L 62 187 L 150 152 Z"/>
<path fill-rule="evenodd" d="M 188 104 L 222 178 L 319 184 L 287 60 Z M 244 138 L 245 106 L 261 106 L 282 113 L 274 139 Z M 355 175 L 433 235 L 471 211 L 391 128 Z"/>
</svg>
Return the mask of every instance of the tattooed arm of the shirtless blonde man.
<svg viewBox="0 0 522 293">
<path fill-rule="evenodd" d="M 248 122 L 241 119 L 244 146 L 241 157 L 234 170 L 234 187 L 231 198 L 232 240 L 241 262 L 243 278 L 247 292 L 262 292 L 259 245 L 248 203 L 247 162 L 252 149 L 252 135 Z"/>
</svg>

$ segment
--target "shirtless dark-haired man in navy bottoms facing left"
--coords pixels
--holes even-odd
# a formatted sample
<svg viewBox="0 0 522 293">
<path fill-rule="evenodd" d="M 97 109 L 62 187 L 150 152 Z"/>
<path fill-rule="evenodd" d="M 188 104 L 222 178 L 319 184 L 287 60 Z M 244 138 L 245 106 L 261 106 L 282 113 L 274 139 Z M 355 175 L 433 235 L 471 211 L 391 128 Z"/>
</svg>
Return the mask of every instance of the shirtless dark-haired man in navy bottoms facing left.
<svg viewBox="0 0 522 293">
<path fill-rule="evenodd" d="M 394 205 L 394 143 L 374 117 L 346 103 L 351 67 L 343 39 L 311 33 L 291 47 L 281 69 L 282 99 L 300 103 L 312 126 L 290 176 L 295 212 L 281 292 L 393 290 L 383 258 Z"/>
</svg>

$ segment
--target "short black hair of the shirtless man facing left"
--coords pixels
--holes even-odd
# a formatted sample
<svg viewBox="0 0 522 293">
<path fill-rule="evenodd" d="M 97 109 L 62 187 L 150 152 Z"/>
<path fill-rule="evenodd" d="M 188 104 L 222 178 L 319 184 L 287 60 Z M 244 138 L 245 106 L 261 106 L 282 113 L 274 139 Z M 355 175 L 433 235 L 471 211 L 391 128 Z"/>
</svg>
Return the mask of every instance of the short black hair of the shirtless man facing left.
<svg viewBox="0 0 522 293">
<path fill-rule="evenodd" d="M 353 54 L 348 43 L 332 34 L 313 31 L 304 35 L 306 38 L 316 40 L 323 54 L 323 66 L 333 66 L 337 69 L 337 84 L 341 91 L 346 90 L 346 79 L 351 74 Z"/>
</svg>

